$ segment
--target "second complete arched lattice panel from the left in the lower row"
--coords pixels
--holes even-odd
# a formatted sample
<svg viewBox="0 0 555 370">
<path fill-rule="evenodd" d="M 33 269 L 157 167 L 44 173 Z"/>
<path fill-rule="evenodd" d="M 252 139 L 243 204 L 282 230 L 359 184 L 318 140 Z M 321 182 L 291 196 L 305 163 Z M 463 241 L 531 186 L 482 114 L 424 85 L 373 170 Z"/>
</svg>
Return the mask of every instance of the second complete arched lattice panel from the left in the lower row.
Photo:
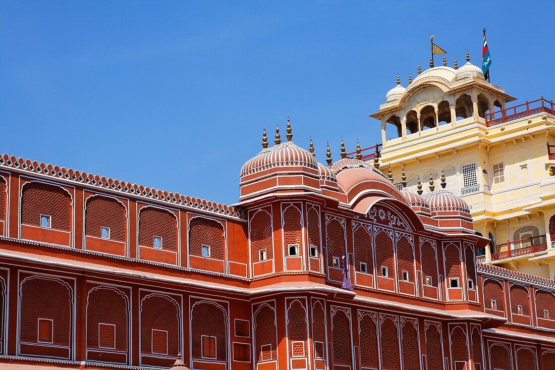
<svg viewBox="0 0 555 370">
<path fill-rule="evenodd" d="M 87 295 L 87 348 L 127 352 L 128 298 L 119 289 L 95 287 Z"/>
</svg>

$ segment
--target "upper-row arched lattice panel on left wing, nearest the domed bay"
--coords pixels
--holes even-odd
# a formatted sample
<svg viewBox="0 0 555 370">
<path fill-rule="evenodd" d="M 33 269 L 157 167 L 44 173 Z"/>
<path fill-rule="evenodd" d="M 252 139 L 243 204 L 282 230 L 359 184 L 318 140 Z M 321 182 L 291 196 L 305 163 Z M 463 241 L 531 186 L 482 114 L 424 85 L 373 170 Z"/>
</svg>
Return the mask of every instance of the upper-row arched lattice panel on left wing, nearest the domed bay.
<svg viewBox="0 0 555 370">
<path fill-rule="evenodd" d="M 189 253 L 224 259 L 224 227 L 215 219 L 194 217 L 189 222 Z"/>
</svg>

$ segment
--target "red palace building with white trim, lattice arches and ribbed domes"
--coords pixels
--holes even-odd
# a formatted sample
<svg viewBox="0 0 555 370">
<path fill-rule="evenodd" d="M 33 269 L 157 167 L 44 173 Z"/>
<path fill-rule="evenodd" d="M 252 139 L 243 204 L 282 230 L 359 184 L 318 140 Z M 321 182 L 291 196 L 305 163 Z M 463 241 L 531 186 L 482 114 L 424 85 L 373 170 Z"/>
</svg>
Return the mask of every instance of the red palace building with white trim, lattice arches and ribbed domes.
<svg viewBox="0 0 555 370">
<path fill-rule="evenodd" d="M 555 369 L 555 281 L 476 264 L 444 182 L 286 136 L 234 206 L 0 156 L 0 368 Z"/>
</svg>

